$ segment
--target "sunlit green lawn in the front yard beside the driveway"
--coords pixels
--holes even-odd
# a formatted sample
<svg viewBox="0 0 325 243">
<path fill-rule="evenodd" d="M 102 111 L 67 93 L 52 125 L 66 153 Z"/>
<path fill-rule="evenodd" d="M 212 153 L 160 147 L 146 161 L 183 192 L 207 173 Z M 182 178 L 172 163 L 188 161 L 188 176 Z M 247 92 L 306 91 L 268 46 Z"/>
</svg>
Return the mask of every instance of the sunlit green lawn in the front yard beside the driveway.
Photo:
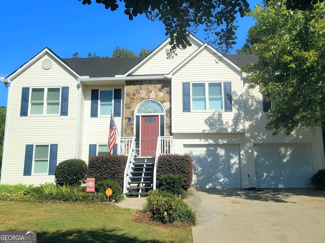
<svg viewBox="0 0 325 243">
<path fill-rule="evenodd" d="M 0 230 L 36 230 L 37 242 L 192 242 L 191 230 L 139 224 L 105 204 L 0 200 Z"/>
</svg>

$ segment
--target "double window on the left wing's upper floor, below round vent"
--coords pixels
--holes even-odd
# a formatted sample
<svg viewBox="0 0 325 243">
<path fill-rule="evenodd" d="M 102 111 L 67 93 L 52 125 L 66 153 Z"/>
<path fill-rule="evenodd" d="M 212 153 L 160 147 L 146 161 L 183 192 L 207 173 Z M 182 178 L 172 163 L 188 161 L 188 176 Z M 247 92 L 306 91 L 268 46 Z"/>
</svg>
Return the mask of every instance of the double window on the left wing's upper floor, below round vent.
<svg viewBox="0 0 325 243">
<path fill-rule="evenodd" d="M 60 88 L 32 88 L 30 92 L 31 115 L 60 113 Z"/>
</svg>

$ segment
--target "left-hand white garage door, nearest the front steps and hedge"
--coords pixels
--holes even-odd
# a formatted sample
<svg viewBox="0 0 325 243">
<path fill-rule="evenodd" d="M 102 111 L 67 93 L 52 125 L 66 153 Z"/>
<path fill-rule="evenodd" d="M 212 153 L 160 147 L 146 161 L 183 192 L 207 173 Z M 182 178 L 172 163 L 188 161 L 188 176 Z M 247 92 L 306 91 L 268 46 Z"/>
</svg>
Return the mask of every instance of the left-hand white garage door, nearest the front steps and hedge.
<svg viewBox="0 0 325 243">
<path fill-rule="evenodd" d="M 194 188 L 240 188 L 238 144 L 184 145 L 193 158 Z"/>
</svg>

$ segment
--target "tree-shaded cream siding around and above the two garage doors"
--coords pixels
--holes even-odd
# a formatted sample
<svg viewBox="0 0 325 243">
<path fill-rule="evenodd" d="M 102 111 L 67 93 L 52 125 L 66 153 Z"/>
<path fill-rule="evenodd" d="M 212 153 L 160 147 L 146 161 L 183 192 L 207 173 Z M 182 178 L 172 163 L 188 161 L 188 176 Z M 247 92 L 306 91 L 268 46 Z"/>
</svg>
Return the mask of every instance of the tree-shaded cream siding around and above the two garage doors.
<svg viewBox="0 0 325 243">
<path fill-rule="evenodd" d="M 183 154 L 184 144 L 239 144 L 243 188 L 254 186 L 250 179 L 254 184 L 256 184 L 254 144 L 310 143 L 312 145 L 312 163 L 314 173 L 323 169 L 324 157 L 322 133 L 320 128 L 314 128 L 314 132 L 312 132 L 311 128 L 299 128 L 290 136 L 285 136 L 283 134 L 272 136 L 272 131 L 264 130 L 264 127 L 267 124 L 267 118 L 266 112 L 263 112 L 262 95 L 258 92 L 258 88 L 248 89 L 248 84 L 245 83 L 244 94 L 245 133 L 192 133 L 192 128 L 187 126 L 187 124 L 190 123 L 189 118 L 187 118 L 187 132 L 185 133 L 181 131 L 180 133 L 173 133 L 174 152 L 176 154 Z M 248 178 L 248 175 L 250 176 L 250 179 Z"/>
</svg>

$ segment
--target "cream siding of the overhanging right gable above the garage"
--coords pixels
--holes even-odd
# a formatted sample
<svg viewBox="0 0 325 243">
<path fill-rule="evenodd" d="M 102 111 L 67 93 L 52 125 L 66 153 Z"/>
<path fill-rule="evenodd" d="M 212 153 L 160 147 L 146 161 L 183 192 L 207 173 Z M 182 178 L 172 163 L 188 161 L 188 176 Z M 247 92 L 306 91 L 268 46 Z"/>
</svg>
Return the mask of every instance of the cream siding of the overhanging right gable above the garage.
<svg viewBox="0 0 325 243">
<path fill-rule="evenodd" d="M 233 111 L 191 109 L 191 112 L 183 112 L 183 82 L 231 82 Z M 222 102 L 224 104 L 224 101 Z M 172 133 L 188 133 L 189 130 L 192 133 L 244 132 L 241 73 L 225 61 L 220 61 L 213 52 L 205 48 L 173 75 L 172 123 Z"/>
</svg>

